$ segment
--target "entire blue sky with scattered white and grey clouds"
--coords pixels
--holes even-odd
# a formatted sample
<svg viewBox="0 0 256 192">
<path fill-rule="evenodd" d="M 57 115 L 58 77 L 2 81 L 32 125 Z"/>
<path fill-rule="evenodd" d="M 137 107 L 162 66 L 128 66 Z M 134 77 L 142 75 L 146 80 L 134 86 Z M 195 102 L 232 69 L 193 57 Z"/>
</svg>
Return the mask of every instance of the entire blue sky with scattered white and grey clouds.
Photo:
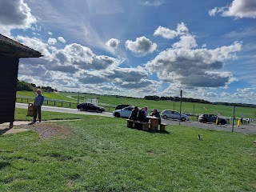
<svg viewBox="0 0 256 192">
<path fill-rule="evenodd" d="M 0 33 L 41 52 L 18 78 L 96 94 L 256 104 L 255 0 L 2 0 Z"/>
</svg>

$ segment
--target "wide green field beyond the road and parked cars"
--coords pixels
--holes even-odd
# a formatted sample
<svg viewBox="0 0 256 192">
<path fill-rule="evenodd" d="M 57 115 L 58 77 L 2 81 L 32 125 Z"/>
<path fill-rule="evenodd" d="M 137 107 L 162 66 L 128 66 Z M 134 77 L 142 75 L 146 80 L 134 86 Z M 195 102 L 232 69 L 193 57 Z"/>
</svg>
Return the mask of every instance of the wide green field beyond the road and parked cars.
<svg viewBox="0 0 256 192">
<path fill-rule="evenodd" d="M 28 91 L 18 91 L 18 95 L 34 97 L 34 92 Z M 46 98 L 53 98 L 66 101 L 78 101 L 78 94 L 72 93 L 43 93 Z M 71 96 L 71 97 L 70 97 Z M 72 97 L 74 99 L 72 99 Z M 106 107 L 106 111 L 113 111 L 114 106 L 118 104 L 130 104 L 133 106 L 148 106 L 149 109 L 158 109 L 161 110 L 178 110 L 180 107 L 180 102 L 171 102 L 171 101 L 150 101 L 143 98 L 117 98 L 115 96 L 109 95 L 92 95 L 92 94 L 79 94 L 79 102 L 84 101 L 84 97 L 98 98 L 98 103 L 101 106 Z M 107 107 L 110 106 L 110 107 Z M 74 105 L 71 107 L 75 107 Z M 233 114 L 233 106 L 222 106 L 222 105 L 211 105 L 211 104 L 202 104 L 194 102 L 182 102 L 182 113 L 191 113 L 191 114 L 221 114 L 222 116 L 230 117 Z M 256 108 L 249 107 L 235 107 L 235 117 L 244 118 L 256 118 Z"/>
</svg>

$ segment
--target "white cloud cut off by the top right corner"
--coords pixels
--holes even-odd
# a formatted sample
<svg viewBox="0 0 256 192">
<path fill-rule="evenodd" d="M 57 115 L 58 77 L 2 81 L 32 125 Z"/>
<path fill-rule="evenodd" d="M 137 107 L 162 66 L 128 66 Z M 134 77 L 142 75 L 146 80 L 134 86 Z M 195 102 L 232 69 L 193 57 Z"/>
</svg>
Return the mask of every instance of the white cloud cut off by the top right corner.
<svg viewBox="0 0 256 192">
<path fill-rule="evenodd" d="M 256 18 L 255 0 L 234 0 L 230 6 L 215 7 L 209 11 L 210 16 L 222 14 L 223 17 Z"/>
</svg>

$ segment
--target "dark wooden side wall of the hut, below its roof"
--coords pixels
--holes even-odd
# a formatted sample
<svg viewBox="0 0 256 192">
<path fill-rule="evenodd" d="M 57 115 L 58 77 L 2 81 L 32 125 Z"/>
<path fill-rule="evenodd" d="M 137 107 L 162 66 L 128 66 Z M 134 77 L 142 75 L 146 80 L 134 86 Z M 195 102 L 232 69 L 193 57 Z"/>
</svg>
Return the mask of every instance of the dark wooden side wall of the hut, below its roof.
<svg viewBox="0 0 256 192">
<path fill-rule="evenodd" d="M 0 54 L 0 123 L 14 122 L 18 58 Z"/>
</svg>

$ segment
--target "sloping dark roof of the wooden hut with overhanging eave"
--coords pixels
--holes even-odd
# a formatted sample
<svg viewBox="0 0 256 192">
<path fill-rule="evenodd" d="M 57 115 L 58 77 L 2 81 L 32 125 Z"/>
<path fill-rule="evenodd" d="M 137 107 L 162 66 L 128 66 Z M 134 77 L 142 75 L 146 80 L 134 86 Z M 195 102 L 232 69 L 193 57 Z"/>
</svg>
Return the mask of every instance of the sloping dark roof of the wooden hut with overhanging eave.
<svg viewBox="0 0 256 192">
<path fill-rule="evenodd" d="M 0 54 L 9 55 L 15 58 L 39 58 L 42 54 L 28 46 L 7 38 L 0 34 Z"/>
</svg>

